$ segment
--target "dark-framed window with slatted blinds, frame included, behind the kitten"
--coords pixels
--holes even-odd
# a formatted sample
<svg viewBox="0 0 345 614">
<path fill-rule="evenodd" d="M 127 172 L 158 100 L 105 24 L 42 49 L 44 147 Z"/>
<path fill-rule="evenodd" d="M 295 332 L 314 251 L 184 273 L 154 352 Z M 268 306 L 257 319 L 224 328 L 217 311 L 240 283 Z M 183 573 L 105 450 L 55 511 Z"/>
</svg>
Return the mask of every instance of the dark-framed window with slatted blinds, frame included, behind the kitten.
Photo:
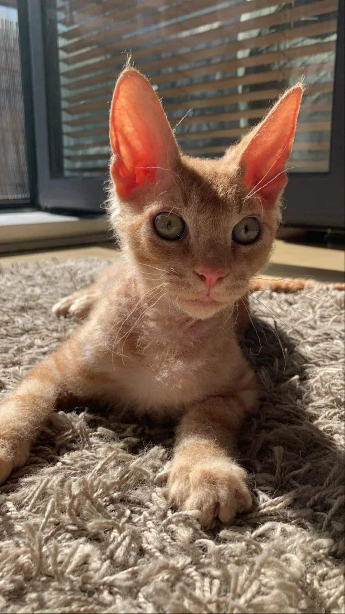
<svg viewBox="0 0 345 614">
<path fill-rule="evenodd" d="M 23 4 L 21 21 L 27 21 L 31 45 L 37 200 L 43 208 L 99 211 L 110 155 L 109 104 L 131 53 L 190 155 L 221 156 L 284 88 L 304 77 L 308 87 L 289 161 L 285 220 L 344 225 L 343 1 Z"/>
</svg>

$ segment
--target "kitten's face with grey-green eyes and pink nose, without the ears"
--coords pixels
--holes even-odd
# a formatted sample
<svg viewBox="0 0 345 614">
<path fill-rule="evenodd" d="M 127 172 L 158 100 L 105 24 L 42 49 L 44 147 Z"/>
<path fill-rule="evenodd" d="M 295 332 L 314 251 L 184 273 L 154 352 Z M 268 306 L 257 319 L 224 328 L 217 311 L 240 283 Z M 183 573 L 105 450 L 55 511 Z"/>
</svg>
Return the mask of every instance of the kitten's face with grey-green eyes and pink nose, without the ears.
<svg viewBox="0 0 345 614">
<path fill-rule="evenodd" d="M 267 262 L 276 211 L 246 200 L 236 170 L 219 161 L 182 157 L 174 178 L 139 211 L 120 209 L 115 225 L 144 286 L 159 286 L 192 317 L 210 317 L 242 297 Z"/>
</svg>

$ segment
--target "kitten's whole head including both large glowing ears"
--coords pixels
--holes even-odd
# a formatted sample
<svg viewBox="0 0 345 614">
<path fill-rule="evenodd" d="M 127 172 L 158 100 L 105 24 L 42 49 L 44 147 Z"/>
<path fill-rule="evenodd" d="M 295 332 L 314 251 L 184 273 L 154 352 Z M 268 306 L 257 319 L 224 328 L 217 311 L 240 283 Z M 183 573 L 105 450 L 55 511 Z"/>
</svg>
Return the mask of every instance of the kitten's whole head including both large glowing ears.
<svg viewBox="0 0 345 614">
<path fill-rule="evenodd" d="M 206 318 L 234 303 L 267 262 L 303 87 L 222 158 L 182 155 L 149 81 L 118 78 L 110 111 L 110 219 L 148 287 Z"/>
</svg>

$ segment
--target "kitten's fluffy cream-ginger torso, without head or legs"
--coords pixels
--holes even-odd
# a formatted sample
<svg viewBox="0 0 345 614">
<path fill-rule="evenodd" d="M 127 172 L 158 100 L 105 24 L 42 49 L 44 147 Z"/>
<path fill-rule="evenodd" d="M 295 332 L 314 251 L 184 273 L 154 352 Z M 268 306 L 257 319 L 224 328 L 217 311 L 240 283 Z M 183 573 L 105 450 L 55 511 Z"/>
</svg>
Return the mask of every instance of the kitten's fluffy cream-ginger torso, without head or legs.
<svg viewBox="0 0 345 614">
<path fill-rule="evenodd" d="M 193 321 L 165 297 L 151 306 L 159 294 L 142 299 L 138 278 L 126 266 L 117 273 L 79 336 L 85 363 L 104 378 L 104 400 L 114 402 L 115 391 L 122 407 L 174 417 L 192 402 L 230 391 L 236 383 L 231 362 L 245 364 L 236 341 L 237 309 Z"/>
</svg>

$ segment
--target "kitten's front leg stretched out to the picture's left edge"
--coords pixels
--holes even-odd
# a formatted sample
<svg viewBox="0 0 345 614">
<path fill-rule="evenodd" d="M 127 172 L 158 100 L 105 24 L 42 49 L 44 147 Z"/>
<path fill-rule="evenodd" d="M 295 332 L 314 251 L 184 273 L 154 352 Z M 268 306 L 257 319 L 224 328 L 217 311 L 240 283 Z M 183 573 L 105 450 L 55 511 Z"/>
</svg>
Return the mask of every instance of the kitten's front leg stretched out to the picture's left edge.
<svg viewBox="0 0 345 614">
<path fill-rule="evenodd" d="M 0 483 L 25 464 L 29 447 L 58 401 L 90 394 L 93 375 L 82 363 L 80 336 L 65 343 L 28 373 L 0 405 Z M 99 385 L 99 382 L 98 382 Z"/>
</svg>

